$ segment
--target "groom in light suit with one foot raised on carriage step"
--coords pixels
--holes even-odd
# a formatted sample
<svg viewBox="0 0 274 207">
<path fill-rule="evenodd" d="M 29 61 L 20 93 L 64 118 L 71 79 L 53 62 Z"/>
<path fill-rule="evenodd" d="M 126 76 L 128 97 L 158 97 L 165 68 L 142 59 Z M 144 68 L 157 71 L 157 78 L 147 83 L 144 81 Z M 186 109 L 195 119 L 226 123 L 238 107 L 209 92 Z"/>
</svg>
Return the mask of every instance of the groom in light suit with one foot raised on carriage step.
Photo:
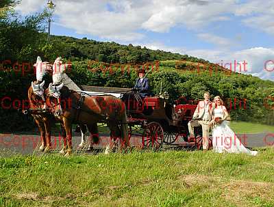
<svg viewBox="0 0 274 207">
<path fill-rule="evenodd" d="M 210 101 L 210 93 L 203 94 L 205 100 L 199 101 L 195 112 L 192 116 L 192 120 L 188 122 L 188 131 L 190 139 L 195 137 L 194 127 L 201 126 L 203 129 L 203 150 L 208 150 L 208 135 L 210 130 L 210 121 L 213 112 L 213 104 Z"/>
</svg>

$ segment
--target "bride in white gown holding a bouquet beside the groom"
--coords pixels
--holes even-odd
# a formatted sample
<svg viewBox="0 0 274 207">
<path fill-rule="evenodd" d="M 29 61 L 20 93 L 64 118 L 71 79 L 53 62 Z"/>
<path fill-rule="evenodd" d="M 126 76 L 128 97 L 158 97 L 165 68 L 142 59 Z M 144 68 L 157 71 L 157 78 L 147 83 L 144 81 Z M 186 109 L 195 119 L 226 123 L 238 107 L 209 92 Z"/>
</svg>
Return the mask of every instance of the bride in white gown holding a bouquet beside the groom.
<svg viewBox="0 0 274 207">
<path fill-rule="evenodd" d="M 212 128 L 212 146 L 214 152 L 244 152 L 251 155 L 258 154 L 258 151 L 251 151 L 236 137 L 235 133 L 229 128 L 227 122 L 227 109 L 223 105 L 223 100 L 220 96 L 214 98 L 215 109 L 212 114 L 212 120 L 210 124 L 213 124 Z"/>
</svg>

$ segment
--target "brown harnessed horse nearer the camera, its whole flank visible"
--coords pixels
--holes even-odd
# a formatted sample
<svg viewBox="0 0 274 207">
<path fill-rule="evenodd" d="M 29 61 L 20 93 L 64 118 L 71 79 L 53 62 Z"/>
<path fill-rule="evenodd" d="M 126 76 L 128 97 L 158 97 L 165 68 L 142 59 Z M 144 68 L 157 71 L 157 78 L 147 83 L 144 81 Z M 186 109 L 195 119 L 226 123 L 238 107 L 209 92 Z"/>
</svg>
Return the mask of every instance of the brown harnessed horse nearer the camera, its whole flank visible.
<svg viewBox="0 0 274 207">
<path fill-rule="evenodd" d="M 86 124 L 95 143 L 99 141 L 98 122 L 105 122 L 110 127 L 111 137 L 121 137 L 121 146 L 129 146 L 127 135 L 127 115 L 125 103 L 114 96 L 82 96 L 64 83 L 49 84 L 46 91 L 47 105 L 58 120 L 62 121 L 66 130 L 68 148 L 66 155 L 72 151 L 72 124 Z M 112 142 L 110 141 L 110 148 Z"/>
</svg>

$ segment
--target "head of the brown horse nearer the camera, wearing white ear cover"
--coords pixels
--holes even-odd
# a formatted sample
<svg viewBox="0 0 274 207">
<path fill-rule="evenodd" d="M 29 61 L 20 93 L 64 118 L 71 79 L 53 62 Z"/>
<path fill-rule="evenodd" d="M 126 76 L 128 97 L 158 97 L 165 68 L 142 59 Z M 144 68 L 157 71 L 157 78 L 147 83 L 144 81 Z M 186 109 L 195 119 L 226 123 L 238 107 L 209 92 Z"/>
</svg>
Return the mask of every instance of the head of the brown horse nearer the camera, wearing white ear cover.
<svg viewBox="0 0 274 207">
<path fill-rule="evenodd" d="M 64 83 L 61 83 L 60 85 L 53 85 L 52 83 L 49 83 L 49 87 L 46 92 L 47 106 L 55 117 L 60 117 L 60 115 L 62 115 L 60 90 L 63 86 Z"/>
</svg>

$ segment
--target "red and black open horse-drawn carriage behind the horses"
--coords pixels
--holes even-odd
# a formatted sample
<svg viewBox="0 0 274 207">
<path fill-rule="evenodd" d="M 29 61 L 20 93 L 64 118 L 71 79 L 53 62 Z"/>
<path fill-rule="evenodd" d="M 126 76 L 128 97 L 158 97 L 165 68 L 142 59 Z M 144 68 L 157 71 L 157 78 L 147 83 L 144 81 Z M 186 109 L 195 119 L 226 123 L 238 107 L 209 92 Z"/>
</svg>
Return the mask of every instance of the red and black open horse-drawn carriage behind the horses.
<svg viewBox="0 0 274 207">
<path fill-rule="evenodd" d="M 142 148 L 158 150 L 162 144 L 196 148 L 202 146 L 201 130 L 195 129 L 195 139 L 188 139 L 188 122 L 197 105 L 171 105 L 164 97 L 141 98 L 138 92 L 122 95 L 127 109 L 129 137 L 142 137 Z"/>
</svg>

